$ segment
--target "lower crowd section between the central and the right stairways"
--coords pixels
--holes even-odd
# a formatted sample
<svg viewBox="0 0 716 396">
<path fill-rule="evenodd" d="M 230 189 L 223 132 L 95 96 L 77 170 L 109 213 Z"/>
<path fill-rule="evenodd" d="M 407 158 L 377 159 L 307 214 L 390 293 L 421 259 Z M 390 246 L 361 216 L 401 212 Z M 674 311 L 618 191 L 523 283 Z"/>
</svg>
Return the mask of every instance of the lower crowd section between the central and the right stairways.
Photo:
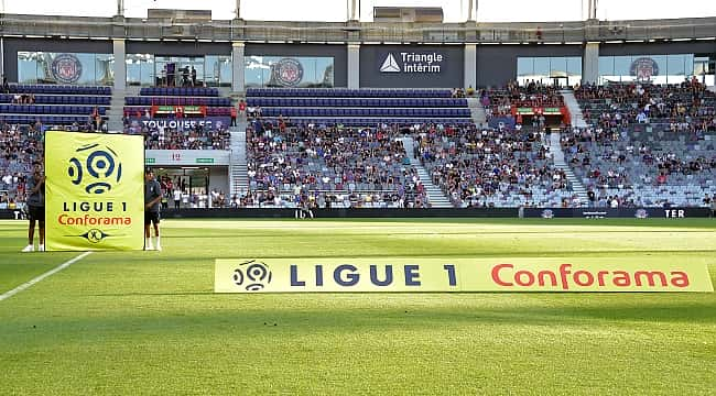
<svg viewBox="0 0 716 396">
<path fill-rule="evenodd" d="M 420 158 L 455 207 L 578 206 L 564 172 L 534 131 L 431 129 Z"/>
</svg>

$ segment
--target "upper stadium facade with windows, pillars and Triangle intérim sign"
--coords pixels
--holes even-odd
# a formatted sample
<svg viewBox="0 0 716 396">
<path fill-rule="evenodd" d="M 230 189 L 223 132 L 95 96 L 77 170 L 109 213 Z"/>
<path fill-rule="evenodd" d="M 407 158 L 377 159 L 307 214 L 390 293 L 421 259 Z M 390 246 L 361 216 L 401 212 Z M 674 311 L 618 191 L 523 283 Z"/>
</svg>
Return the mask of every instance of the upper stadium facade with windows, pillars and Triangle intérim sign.
<svg viewBox="0 0 716 396">
<path fill-rule="evenodd" d="M 4 14 L 2 73 L 10 81 L 41 82 L 43 67 L 51 68 L 43 57 L 74 54 L 85 72 L 68 82 L 122 90 L 156 85 L 165 64 L 188 62 L 208 86 L 242 92 L 269 82 L 261 70 L 270 58 L 290 57 L 303 70 L 300 81 L 288 70 L 286 86 L 486 87 L 519 77 L 600 82 L 629 79 L 639 67 L 658 68 L 659 82 L 695 74 L 713 85 L 714 26 L 716 18 L 435 24 Z"/>
</svg>

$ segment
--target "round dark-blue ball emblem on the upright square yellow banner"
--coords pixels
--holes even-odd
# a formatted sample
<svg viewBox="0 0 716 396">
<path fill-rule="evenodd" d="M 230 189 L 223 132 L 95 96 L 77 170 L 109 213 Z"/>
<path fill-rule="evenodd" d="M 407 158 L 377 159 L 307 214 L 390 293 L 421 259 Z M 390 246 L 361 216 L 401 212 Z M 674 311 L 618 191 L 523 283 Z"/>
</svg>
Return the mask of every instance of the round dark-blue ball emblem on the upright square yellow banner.
<svg viewBox="0 0 716 396">
<path fill-rule="evenodd" d="M 88 194 L 105 194 L 122 178 L 122 164 L 110 147 L 89 144 L 77 148 L 75 155 L 69 160 L 67 175 L 73 185 L 83 186 Z"/>
</svg>

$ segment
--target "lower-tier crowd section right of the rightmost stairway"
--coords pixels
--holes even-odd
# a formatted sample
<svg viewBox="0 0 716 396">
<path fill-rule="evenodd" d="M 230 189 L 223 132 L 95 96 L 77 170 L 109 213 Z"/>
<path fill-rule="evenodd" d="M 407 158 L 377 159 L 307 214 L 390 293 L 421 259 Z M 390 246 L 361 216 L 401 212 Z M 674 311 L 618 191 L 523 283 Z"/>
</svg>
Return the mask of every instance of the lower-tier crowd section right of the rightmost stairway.
<svg viewBox="0 0 716 396">
<path fill-rule="evenodd" d="M 703 206 L 716 193 L 716 134 L 575 129 L 565 156 L 595 207 Z"/>
</svg>

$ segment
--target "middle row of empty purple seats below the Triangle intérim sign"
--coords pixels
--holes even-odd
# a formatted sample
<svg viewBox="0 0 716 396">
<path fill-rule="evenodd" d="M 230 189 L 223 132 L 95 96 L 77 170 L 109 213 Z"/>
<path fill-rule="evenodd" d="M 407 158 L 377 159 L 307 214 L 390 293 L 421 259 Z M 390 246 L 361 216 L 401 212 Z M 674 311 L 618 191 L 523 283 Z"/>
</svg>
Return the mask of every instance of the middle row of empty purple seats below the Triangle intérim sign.
<svg viewBox="0 0 716 396">
<path fill-rule="evenodd" d="M 254 98 L 247 99 L 248 106 L 291 107 L 467 107 L 467 99 L 453 98 Z"/>
</svg>

